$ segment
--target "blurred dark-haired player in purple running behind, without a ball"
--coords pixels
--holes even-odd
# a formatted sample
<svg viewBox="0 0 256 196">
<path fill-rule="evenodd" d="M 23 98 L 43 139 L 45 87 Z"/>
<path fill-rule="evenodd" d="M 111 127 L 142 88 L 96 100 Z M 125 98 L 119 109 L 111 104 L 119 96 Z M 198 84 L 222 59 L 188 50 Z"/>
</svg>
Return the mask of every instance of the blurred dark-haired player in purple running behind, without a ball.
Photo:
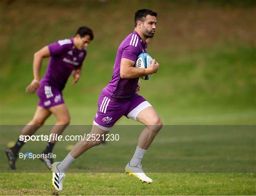
<svg viewBox="0 0 256 196">
<path fill-rule="evenodd" d="M 64 103 L 62 91 L 69 76 L 73 73 L 73 84 L 81 75 L 82 62 L 86 57 L 86 47 L 93 40 L 93 32 L 89 27 L 79 27 L 73 38 L 59 40 L 53 44 L 46 45 L 34 54 L 33 73 L 34 80 L 27 86 L 27 93 L 37 91 L 39 103 L 32 120 L 22 129 L 20 135 L 33 135 L 37 129 L 44 124 L 51 115 L 57 119 L 52 127 L 51 134 L 62 134 L 70 122 L 70 115 Z M 40 68 L 44 58 L 50 57 L 46 75 L 40 80 Z M 46 155 L 53 151 L 56 141 L 53 137 L 47 143 L 42 154 Z M 24 145 L 24 141 L 18 141 L 12 148 L 5 150 L 11 169 L 16 169 L 18 151 Z M 41 159 L 46 167 L 51 169 L 53 160 L 42 156 Z"/>
</svg>

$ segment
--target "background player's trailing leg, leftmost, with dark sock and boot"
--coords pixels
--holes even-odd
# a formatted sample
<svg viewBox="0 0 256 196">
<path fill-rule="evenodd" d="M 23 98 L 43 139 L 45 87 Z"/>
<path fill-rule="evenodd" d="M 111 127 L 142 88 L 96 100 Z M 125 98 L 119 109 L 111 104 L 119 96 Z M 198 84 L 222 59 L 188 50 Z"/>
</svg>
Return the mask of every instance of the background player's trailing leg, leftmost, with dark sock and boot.
<svg viewBox="0 0 256 196">
<path fill-rule="evenodd" d="M 45 123 L 46 119 L 50 115 L 51 112 L 48 109 L 37 106 L 37 110 L 35 112 L 33 119 L 22 129 L 20 135 L 33 135 L 37 131 L 37 129 Z M 25 143 L 23 141 L 19 141 L 18 139 L 14 147 L 7 148 L 5 150 L 6 155 L 8 157 L 9 166 L 11 169 L 16 169 L 15 161 L 17 158 L 17 154 L 24 144 Z"/>
</svg>

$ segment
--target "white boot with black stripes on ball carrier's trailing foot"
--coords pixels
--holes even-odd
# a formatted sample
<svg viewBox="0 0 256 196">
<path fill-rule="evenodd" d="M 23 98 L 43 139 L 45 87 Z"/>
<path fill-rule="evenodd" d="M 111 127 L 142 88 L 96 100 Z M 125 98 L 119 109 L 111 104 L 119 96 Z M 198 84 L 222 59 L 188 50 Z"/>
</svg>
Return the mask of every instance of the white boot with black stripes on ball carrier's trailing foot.
<svg viewBox="0 0 256 196">
<path fill-rule="evenodd" d="M 57 191 L 61 191 L 62 190 L 62 183 L 63 183 L 63 179 L 65 178 L 65 173 L 61 172 L 58 169 L 58 165 L 61 162 L 54 162 L 52 164 L 52 172 L 53 172 L 53 178 L 52 178 L 52 185 L 54 186 L 54 188 Z"/>
</svg>

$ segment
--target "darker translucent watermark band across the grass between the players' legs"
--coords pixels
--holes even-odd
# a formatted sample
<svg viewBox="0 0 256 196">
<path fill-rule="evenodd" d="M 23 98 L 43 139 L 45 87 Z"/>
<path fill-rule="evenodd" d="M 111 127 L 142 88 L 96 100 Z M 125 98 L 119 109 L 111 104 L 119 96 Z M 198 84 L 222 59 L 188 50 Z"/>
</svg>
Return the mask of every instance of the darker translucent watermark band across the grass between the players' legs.
<svg viewBox="0 0 256 196">
<path fill-rule="evenodd" d="M 92 143 L 97 145 L 79 156 L 66 172 L 124 172 L 141 135 L 154 133 L 154 126 L 115 125 L 102 138 L 91 133 L 92 125 L 69 125 L 57 135 L 51 134 L 53 126 L 44 125 L 34 135 L 20 137 L 22 125 L 0 128 L 0 172 L 49 172 L 42 158 L 62 161 L 70 151 Z M 18 145 L 18 139 L 24 144 L 16 154 L 17 169 L 11 170 L 4 151 Z M 46 151 L 52 140 L 55 145 Z M 164 125 L 141 164 L 146 173 L 251 173 L 256 172 L 255 146 L 256 125 Z"/>
</svg>

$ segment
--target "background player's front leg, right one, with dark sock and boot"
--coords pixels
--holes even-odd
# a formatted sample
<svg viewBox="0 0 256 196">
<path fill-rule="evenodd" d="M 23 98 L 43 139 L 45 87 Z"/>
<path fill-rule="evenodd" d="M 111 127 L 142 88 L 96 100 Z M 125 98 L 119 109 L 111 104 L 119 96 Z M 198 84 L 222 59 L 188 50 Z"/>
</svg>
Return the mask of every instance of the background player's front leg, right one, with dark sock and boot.
<svg viewBox="0 0 256 196">
<path fill-rule="evenodd" d="M 61 135 L 66 128 L 67 125 L 69 125 L 70 122 L 70 115 L 68 108 L 65 104 L 60 104 L 57 106 L 53 106 L 49 108 L 50 112 L 54 114 L 54 116 L 57 119 L 57 122 L 52 127 L 51 134 L 57 134 Z M 53 137 L 50 138 L 50 141 L 48 141 L 46 145 L 46 149 L 42 152 L 42 154 L 49 154 L 52 153 L 54 145 L 56 141 L 53 139 Z M 52 168 L 53 160 L 50 158 L 46 158 L 46 156 L 42 157 L 41 160 L 45 163 L 46 167 L 48 169 Z"/>
</svg>

